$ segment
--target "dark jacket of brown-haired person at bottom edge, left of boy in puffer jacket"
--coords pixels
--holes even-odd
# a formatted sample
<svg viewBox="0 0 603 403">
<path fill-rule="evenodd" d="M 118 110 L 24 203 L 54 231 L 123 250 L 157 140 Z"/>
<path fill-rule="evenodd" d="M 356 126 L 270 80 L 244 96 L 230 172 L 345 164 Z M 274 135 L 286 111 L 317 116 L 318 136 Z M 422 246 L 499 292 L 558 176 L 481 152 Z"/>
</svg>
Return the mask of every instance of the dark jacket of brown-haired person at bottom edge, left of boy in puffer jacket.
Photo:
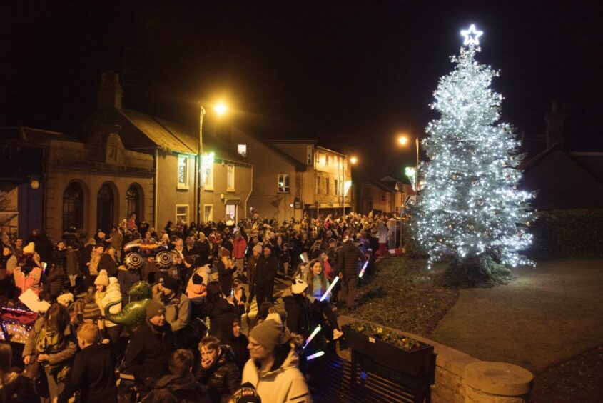
<svg viewBox="0 0 603 403">
<path fill-rule="evenodd" d="M 155 389 L 144 400 L 149 403 L 209 403 L 207 388 L 199 384 L 193 374 L 166 375 L 155 384 Z"/>
</svg>

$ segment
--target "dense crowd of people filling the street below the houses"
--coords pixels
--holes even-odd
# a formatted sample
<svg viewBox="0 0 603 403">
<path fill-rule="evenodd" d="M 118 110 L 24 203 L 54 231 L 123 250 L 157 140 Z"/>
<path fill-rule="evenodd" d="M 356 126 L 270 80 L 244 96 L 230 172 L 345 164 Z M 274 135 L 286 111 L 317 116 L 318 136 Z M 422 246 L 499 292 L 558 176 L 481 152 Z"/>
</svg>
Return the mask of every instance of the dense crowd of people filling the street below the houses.
<svg viewBox="0 0 603 403">
<path fill-rule="evenodd" d="M 49 308 L 22 372 L 0 345 L 0 402 L 308 402 L 318 347 L 305 341 L 317 325 L 314 344 L 342 337 L 336 311 L 355 309 L 386 226 L 373 214 L 255 216 L 158 231 L 133 216 L 86 242 L 75 229 L 56 244 L 44 231 L 3 234 L 0 304 L 31 290 Z M 290 284 L 278 304 L 276 283 Z"/>
</svg>

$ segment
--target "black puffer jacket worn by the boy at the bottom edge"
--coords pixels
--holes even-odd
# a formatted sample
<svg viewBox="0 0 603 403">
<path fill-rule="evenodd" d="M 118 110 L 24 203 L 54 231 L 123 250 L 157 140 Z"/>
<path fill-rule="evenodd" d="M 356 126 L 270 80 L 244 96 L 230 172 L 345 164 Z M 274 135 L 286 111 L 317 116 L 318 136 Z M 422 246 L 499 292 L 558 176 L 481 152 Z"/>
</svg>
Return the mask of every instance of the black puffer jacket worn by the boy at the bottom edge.
<svg viewBox="0 0 603 403">
<path fill-rule="evenodd" d="M 221 354 L 209 369 L 199 365 L 197 380 L 207 386 L 212 403 L 228 402 L 228 397 L 240 387 L 240 371 L 233 352 L 228 346 L 220 346 Z"/>
</svg>

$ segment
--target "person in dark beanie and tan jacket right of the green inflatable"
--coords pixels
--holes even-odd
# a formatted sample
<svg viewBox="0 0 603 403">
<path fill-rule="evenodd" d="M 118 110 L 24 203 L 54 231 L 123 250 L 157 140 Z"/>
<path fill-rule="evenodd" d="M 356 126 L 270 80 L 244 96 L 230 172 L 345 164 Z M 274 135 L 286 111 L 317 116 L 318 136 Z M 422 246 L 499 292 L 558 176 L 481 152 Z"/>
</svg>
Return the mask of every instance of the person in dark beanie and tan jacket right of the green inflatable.
<svg viewBox="0 0 603 403">
<path fill-rule="evenodd" d="M 158 285 L 159 292 L 153 299 L 166 307 L 166 322 L 174 333 L 176 346 L 180 347 L 181 339 L 186 336 L 186 327 L 191 322 L 191 301 L 178 288 L 175 279 L 163 276 Z"/>
</svg>

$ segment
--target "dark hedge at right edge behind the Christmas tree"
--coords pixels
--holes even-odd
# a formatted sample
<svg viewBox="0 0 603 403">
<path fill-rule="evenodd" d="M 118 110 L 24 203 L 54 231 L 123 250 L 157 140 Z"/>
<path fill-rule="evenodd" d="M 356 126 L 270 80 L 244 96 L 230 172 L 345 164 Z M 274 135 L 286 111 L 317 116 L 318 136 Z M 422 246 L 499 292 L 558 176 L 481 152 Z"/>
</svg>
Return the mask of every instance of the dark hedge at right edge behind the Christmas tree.
<svg viewBox="0 0 603 403">
<path fill-rule="evenodd" d="M 603 209 L 538 212 L 531 259 L 603 256 Z"/>
</svg>

